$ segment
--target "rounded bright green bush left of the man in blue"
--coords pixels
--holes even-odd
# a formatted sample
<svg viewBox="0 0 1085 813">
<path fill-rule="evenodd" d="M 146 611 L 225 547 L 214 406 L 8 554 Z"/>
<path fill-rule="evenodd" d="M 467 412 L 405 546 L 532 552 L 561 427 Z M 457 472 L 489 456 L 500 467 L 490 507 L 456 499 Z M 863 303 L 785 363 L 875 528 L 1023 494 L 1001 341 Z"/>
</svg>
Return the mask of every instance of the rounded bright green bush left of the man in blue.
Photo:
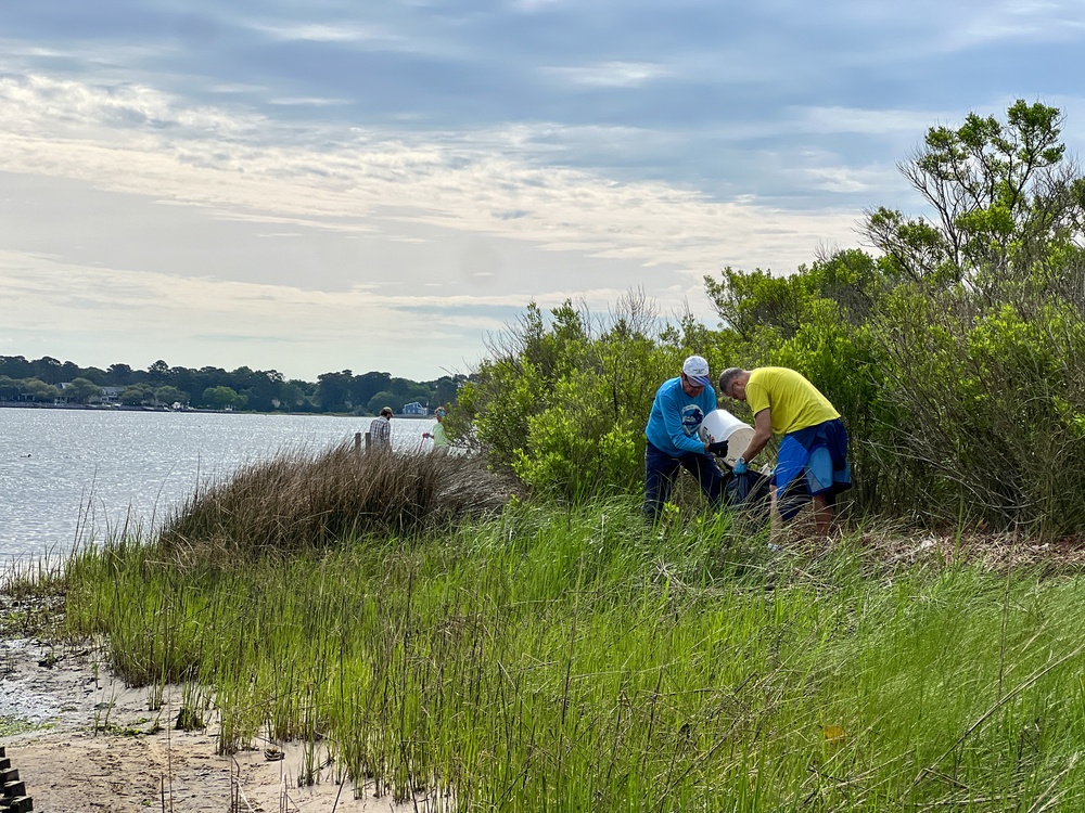
<svg viewBox="0 0 1085 813">
<path fill-rule="evenodd" d="M 639 294 L 602 320 L 571 301 L 548 319 L 532 304 L 490 349 L 460 390 L 449 433 L 535 491 L 566 500 L 638 489 L 656 389 L 685 356 L 719 352 L 691 317 L 660 320 Z"/>
</svg>

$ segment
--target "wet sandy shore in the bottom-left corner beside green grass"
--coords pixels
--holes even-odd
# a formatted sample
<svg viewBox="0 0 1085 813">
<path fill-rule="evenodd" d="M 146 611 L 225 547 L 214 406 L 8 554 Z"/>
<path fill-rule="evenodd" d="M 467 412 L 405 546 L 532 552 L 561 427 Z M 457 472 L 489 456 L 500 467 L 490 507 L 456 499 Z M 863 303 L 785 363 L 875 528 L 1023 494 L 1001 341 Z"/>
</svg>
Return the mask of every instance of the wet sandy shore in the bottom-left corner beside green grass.
<svg viewBox="0 0 1085 813">
<path fill-rule="evenodd" d="M 0 745 L 26 783 L 36 811 L 433 809 L 424 800 L 395 805 L 371 795 L 355 799 L 330 771 L 317 785 L 298 788 L 298 746 L 288 746 L 278 761 L 265 758 L 267 744 L 257 744 L 256 751 L 217 756 L 214 727 L 171 730 L 178 687 L 167 687 L 161 710 L 150 711 L 145 688 L 125 687 L 95 662 L 86 649 L 0 641 Z"/>
</svg>

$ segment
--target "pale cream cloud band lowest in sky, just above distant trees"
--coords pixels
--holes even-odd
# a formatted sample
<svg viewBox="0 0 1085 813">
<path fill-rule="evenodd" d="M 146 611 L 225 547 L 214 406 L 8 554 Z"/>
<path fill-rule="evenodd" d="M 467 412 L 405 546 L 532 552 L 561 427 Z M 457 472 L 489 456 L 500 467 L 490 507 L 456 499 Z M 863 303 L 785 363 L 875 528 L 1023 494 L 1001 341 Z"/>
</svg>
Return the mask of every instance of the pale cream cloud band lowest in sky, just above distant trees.
<svg viewBox="0 0 1085 813">
<path fill-rule="evenodd" d="M 623 293 L 571 288 L 540 291 L 533 298 L 544 308 L 573 299 L 604 311 Z M 273 366 L 308 380 L 333 369 L 387 369 L 390 358 L 397 360 L 399 374 L 420 378 L 431 375 L 434 362 L 462 367 L 463 360 L 477 359 L 481 335 L 500 331 L 527 304 L 520 294 L 388 296 L 365 286 L 326 293 L 178 279 L 9 250 L 0 250 L 0 298 L 11 308 L 0 345 L 49 324 L 50 354 L 67 359 L 132 363 L 131 337 L 143 336 L 139 344 L 152 357 L 149 361 L 166 354 L 163 348 L 168 347 L 175 364 Z M 444 336 L 445 341 L 419 358 L 418 345 L 409 338 L 414 334 Z M 395 336 L 405 337 L 397 348 L 390 347 Z M 224 343 L 239 348 L 226 350 Z M 359 348 L 372 348 L 373 358 L 360 361 Z"/>
</svg>

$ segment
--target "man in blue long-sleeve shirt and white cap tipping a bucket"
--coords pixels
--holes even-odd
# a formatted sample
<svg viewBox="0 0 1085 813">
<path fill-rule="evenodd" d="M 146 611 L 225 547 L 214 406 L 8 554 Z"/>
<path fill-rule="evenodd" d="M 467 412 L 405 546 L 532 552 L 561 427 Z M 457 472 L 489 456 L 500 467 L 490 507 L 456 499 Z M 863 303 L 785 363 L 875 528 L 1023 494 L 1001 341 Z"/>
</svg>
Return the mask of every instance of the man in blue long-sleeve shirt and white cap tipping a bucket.
<svg viewBox="0 0 1085 813">
<path fill-rule="evenodd" d="M 681 375 L 664 382 L 656 391 L 644 428 L 644 516 L 656 518 L 671 496 L 679 466 L 697 477 L 711 503 L 719 500 L 724 474 L 697 431 L 704 416 L 715 409 L 716 391 L 709 377 L 709 362 L 690 356 Z"/>
</svg>

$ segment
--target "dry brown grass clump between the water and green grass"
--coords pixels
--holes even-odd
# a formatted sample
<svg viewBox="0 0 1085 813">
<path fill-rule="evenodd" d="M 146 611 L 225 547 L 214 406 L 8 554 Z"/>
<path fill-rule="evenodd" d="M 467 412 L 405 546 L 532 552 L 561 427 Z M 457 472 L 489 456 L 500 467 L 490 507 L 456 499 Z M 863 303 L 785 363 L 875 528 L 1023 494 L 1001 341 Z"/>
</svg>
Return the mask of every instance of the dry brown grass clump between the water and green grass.
<svg viewBox="0 0 1085 813">
<path fill-rule="evenodd" d="M 409 535 L 499 508 L 509 488 L 477 455 L 285 451 L 199 490 L 166 522 L 182 557 L 290 555 L 372 533 Z"/>
</svg>

